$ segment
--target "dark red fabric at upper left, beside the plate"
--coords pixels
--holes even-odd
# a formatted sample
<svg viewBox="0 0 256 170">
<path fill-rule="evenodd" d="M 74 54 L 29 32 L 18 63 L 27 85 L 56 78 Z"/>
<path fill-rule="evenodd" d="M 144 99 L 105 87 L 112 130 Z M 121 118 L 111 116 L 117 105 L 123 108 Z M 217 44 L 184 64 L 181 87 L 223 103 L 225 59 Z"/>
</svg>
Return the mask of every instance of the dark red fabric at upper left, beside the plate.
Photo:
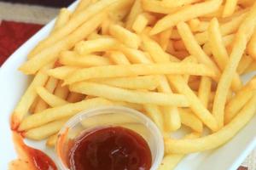
<svg viewBox="0 0 256 170">
<path fill-rule="evenodd" d="M 0 25 L 0 65 L 42 26 L 3 20 Z"/>
</svg>

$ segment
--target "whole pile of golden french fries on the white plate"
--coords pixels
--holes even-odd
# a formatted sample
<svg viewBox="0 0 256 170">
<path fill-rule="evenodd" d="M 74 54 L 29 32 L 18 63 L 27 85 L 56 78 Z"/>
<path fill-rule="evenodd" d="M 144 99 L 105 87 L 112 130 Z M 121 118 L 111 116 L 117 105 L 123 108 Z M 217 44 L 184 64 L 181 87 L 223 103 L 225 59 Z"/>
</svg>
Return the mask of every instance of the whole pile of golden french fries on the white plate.
<svg viewBox="0 0 256 170">
<path fill-rule="evenodd" d="M 170 170 L 186 154 L 212 150 L 256 112 L 253 0 L 81 0 L 20 71 L 34 75 L 12 115 L 27 139 L 47 139 L 79 111 L 124 105 L 159 127 Z M 170 137 L 181 127 L 190 133 Z M 203 134 L 209 129 L 207 135 Z"/>
</svg>

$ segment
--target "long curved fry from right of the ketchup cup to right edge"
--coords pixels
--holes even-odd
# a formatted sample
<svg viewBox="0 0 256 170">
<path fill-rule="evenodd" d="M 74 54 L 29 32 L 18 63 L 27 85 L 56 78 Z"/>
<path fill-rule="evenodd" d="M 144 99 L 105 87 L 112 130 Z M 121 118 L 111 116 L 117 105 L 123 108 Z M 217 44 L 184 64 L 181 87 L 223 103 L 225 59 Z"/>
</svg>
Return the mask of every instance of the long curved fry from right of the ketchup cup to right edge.
<svg viewBox="0 0 256 170">
<path fill-rule="evenodd" d="M 188 154 L 192 152 L 211 150 L 225 144 L 238 133 L 256 112 L 256 95 L 243 107 L 237 116 L 217 133 L 199 139 L 165 139 L 166 153 Z"/>
</svg>

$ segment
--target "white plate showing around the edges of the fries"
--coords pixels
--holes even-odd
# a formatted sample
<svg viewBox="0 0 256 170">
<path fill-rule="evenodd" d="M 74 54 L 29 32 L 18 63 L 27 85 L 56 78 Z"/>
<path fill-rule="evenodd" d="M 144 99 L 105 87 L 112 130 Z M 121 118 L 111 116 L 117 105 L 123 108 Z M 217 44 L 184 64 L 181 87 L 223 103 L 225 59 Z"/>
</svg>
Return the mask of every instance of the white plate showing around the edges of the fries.
<svg viewBox="0 0 256 170">
<path fill-rule="evenodd" d="M 77 3 L 73 3 L 70 9 L 73 9 Z M 24 93 L 29 77 L 26 77 L 17 69 L 26 60 L 26 54 L 49 34 L 54 21 L 51 21 L 41 31 L 22 45 L 0 69 L 0 150 L 1 161 L 0 169 L 8 169 L 8 163 L 16 158 L 14 145 L 12 142 L 11 131 L 9 127 L 9 116 L 15 109 L 15 105 Z M 244 77 L 246 81 L 250 76 Z M 256 104 L 255 104 L 256 105 Z M 207 151 L 204 153 L 191 154 L 187 156 L 179 165 L 177 170 L 235 170 L 246 156 L 256 146 L 256 116 L 236 135 L 228 144 L 218 150 Z M 45 147 L 44 142 L 32 142 L 26 140 L 26 144 L 34 148 L 44 150 L 55 160 L 53 150 Z"/>
</svg>

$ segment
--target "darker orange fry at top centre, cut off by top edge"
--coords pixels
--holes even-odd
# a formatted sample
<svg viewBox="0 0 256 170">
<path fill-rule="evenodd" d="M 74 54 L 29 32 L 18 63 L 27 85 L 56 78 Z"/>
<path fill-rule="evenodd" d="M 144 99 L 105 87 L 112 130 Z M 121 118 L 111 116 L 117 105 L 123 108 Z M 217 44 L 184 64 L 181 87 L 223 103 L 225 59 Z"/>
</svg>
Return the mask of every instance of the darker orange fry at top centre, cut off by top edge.
<svg viewBox="0 0 256 170">
<path fill-rule="evenodd" d="M 133 6 L 131 8 L 130 14 L 127 16 L 127 19 L 125 20 L 125 27 L 127 29 L 131 29 L 131 26 L 133 25 L 134 21 L 137 18 L 138 14 L 141 14 L 143 12 L 141 0 L 136 0 L 133 3 Z"/>
</svg>

